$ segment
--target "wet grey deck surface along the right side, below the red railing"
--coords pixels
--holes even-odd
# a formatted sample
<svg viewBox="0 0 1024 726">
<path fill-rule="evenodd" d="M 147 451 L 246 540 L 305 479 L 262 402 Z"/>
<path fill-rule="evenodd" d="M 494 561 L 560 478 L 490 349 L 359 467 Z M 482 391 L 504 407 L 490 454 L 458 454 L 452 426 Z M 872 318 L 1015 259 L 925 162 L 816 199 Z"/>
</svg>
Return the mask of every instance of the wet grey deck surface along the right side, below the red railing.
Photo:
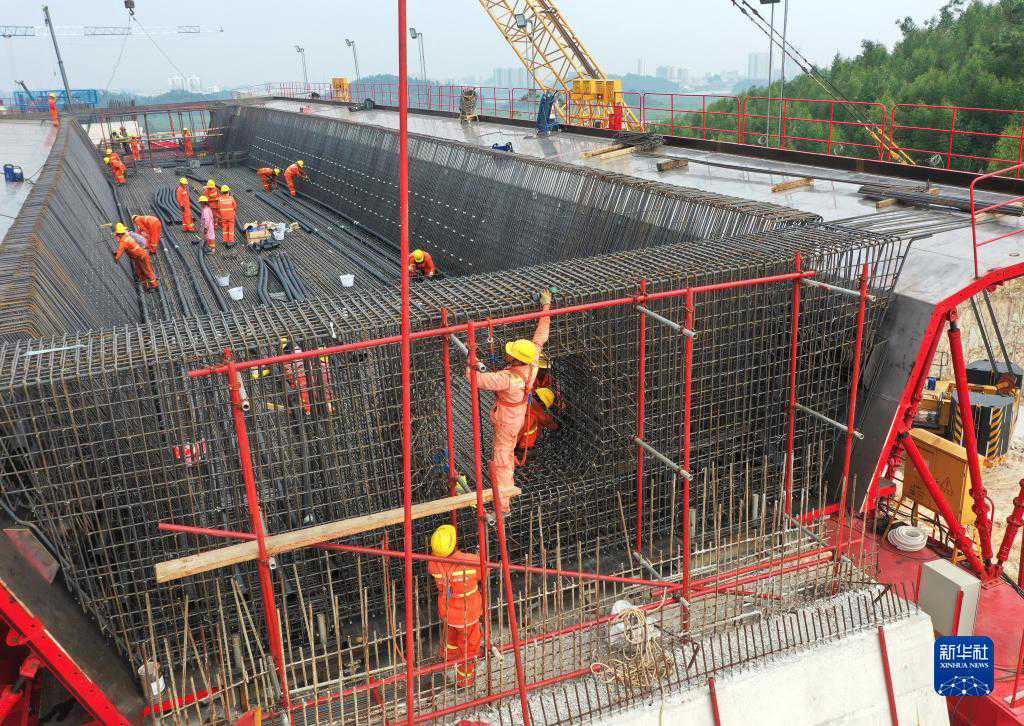
<svg viewBox="0 0 1024 726">
<path fill-rule="evenodd" d="M 308 100 L 272 99 L 262 101 L 261 104 L 268 109 L 292 112 L 300 112 L 305 109 L 307 113 L 352 123 L 387 128 L 397 128 L 398 125 L 398 115 L 392 111 L 376 110 L 351 113 L 345 106 Z M 823 169 L 739 155 L 668 146 L 657 150 L 656 155 L 637 154 L 602 162 L 594 158 L 584 159 L 581 155 L 584 152 L 607 145 L 608 141 L 603 138 L 567 132 L 556 132 L 548 137 L 540 138 L 531 129 L 521 126 L 490 122 L 461 124 L 458 119 L 440 116 L 412 114 L 410 115 L 410 131 L 466 141 L 480 146 L 511 141 L 516 154 L 542 159 L 557 159 L 580 166 L 605 169 L 679 186 L 710 189 L 749 200 L 774 202 L 813 212 L 826 221 L 878 214 L 874 202 L 860 197 L 857 189 L 865 183 L 894 183 L 891 177 L 878 174 Z M 686 157 L 691 160 L 732 164 L 752 169 L 763 169 L 764 172 L 722 169 L 697 163 L 691 163 L 689 169 L 658 172 L 655 166 L 656 162 L 671 157 Z M 813 186 L 774 194 L 771 190 L 774 184 L 787 181 L 793 177 L 781 176 L 773 172 L 823 175 L 840 180 L 815 181 Z M 912 182 L 904 183 L 909 185 Z M 942 194 L 967 195 L 966 189 L 959 187 L 941 184 L 938 186 Z M 893 209 L 900 208 L 890 208 L 886 211 L 891 214 Z M 944 210 L 915 210 L 914 213 L 923 215 L 926 218 L 926 223 L 928 219 L 932 219 L 935 224 L 942 224 L 943 227 L 937 233 L 914 242 L 900 276 L 897 292 L 921 300 L 936 302 L 945 298 L 950 292 L 965 287 L 974 279 L 970 215 Z M 880 215 L 880 224 L 883 219 L 884 217 Z M 959 223 L 958 228 L 949 229 L 949 226 L 957 222 Z M 979 224 L 978 237 L 979 239 L 990 239 L 1020 226 L 1022 224 L 1017 218 L 999 217 Z M 927 234 L 927 232 L 925 233 Z M 1024 252 L 1024 236 L 1012 237 L 986 246 L 980 252 L 981 272 L 984 273 L 987 269 L 1020 262 L 1024 260 L 1022 252 Z"/>
</svg>

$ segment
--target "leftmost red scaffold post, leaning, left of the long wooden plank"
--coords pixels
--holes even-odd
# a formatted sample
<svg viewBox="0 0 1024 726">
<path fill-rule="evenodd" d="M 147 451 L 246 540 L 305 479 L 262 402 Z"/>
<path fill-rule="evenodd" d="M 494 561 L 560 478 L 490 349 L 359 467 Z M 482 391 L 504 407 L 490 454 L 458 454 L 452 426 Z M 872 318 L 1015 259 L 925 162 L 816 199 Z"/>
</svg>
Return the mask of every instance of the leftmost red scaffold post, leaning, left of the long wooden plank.
<svg viewBox="0 0 1024 726">
<path fill-rule="evenodd" d="M 252 451 L 249 447 L 249 429 L 246 426 L 246 408 L 248 402 L 242 392 L 242 380 L 233 359 L 227 361 L 227 385 L 231 392 L 231 417 L 234 421 L 234 434 L 239 439 L 239 460 L 242 464 L 242 479 L 246 484 L 246 504 L 249 509 L 249 519 L 256 536 L 256 547 L 259 557 L 256 568 L 259 572 L 260 595 L 263 599 L 263 616 L 266 620 L 267 639 L 270 654 L 278 669 L 278 679 L 281 681 L 281 697 L 285 711 L 291 709 L 291 693 L 288 687 L 288 672 L 285 664 L 285 646 L 281 640 L 281 621 L 278 617 L 278 605 L 273 597 L 273 581 L 270 578 L 270 558 L 266 554 L 266 530 L 263 527 L 263 512 L 259 504 L 259 492 L 256 489 L 256 472 L 253 470 Z"/>
</svg>

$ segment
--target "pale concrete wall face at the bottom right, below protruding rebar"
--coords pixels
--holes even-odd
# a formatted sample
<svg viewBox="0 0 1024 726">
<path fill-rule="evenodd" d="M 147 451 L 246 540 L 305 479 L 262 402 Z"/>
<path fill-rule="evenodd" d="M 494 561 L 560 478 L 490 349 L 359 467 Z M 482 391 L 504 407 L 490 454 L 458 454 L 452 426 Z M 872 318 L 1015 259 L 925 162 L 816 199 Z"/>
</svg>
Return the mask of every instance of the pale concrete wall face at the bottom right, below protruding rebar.
<svg viewBox="0 0 1024 726">
<path fill-rule="evenodd" d="M 931 618 L 922 612 L 885 630 L 899 723 L 948 724 L 945 699 L 932 688 Z M 719 715 L 726 725 L 891 723 L 877 630 L 723 676 L 715 685 Z M 714 726 L 715 720 L 709 690 L 702 688 L 597 723 Z"/>
</svg>

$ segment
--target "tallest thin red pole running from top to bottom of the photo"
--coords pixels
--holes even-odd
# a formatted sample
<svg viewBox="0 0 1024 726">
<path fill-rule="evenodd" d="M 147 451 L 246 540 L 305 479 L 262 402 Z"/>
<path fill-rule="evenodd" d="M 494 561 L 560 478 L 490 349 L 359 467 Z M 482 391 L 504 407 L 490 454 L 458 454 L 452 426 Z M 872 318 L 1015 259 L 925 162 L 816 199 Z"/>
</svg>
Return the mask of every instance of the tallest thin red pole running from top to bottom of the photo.
<svg viewBox="0 0 1024 726">
<path fill-rule="evenodd" d="M 412 316 L 409 309 L 409 54 L 406 45 L 406 0 L 398 0 L 398 224 L 401 248 L 401 481 L 402 550 L 406 556 L 406 723 L 416 716 L 416 640 L 413 637 L 413 390 Z"/>
</svg>

